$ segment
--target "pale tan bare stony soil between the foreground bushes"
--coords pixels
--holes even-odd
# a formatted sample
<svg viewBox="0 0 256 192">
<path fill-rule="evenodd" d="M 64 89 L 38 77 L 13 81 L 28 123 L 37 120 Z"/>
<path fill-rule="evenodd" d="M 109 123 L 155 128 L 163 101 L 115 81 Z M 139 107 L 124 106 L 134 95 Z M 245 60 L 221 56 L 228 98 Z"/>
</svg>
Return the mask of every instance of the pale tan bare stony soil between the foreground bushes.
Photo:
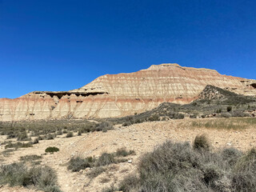
<svg viewBox="0 0 256 192">
<path fill-rule="evenodd" d="M 170 139 L 174 142 L 193 142 L 198 134 L 206 134 L 213 145 L 214 150 L 222 147 L 234 146 L 239 150 L 248 150 L 256 147 L 256 127 L 250 126 L 241 130 L 206 129 L 190 126 L 192 119 L 172 120 L 168 122 L 143 122 L 132 126 L 115 126 L 114 130 L 106 133 L 93 132 L 65 138 L 65 135 L 58 136 L 54 140 L 40 141 L 32 148 L 18 149 L 9 157 L 0 155 L 0 163 L 8 164 L 18 162 L 21 156 L 29 154 L 42 155 L 41 165 L 52 167 L 58 174 L 58 185 L 64 192 L 70 191 L 102 191 L 104 187 L 112 183 L 117 184 L 127 174 L 136 171 L 138 161 L 143 153 L 151 151 L 154 146 Z M 200 121 L 207 121 L 201 119 Z M 0 136 L 0 141 L 6 136 Z M 48 146 L 56 146 L 59 152 L 45 154 Z M 4 150 L 0 146 L 0 153 Z M 67 170 L 66 163 L 73 156 L 99 156 L 102 152 L 114 152 L 118 148 L 126 147 L 127 150 L 135 150 L 135 155 L 130 155 L 127 162 L 106 166 L 106 171 L 97 178 L 90 179 L 86 172 L 90 168 L 80 172 Z M 132 160 L 132 162 L 128 162 Z M 10 188 L 1 186 L 0 191 L 33 191 L 22 187 Z"/>
</svg>

